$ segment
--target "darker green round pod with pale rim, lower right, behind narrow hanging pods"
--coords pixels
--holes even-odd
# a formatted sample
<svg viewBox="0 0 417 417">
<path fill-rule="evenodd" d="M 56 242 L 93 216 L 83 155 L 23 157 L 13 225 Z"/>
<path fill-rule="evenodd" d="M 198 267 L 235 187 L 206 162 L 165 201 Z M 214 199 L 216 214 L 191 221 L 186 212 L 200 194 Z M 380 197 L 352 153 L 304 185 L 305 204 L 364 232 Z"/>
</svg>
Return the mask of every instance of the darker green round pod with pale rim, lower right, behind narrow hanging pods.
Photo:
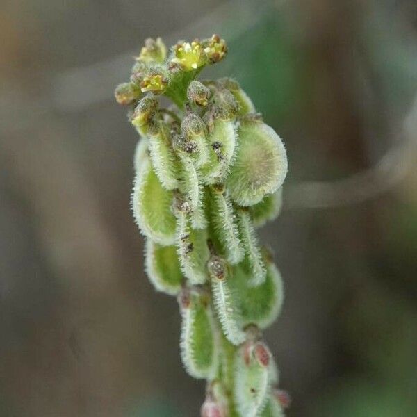
<svg viewBox="0 0 417 417">
<path fill-rule="evenodd" d="M 245 263 L 234 266 L 233 275 L 229 279 L 230 291 L 236 295 L 241 325 L 244 327 L 253 323 L 265 329 L 275 321 L 281 311 L 284 300 L 281 274 L 274 263 L 268 262 L 263 284 L 250 286 L 250 267 Z"/>
</svg>

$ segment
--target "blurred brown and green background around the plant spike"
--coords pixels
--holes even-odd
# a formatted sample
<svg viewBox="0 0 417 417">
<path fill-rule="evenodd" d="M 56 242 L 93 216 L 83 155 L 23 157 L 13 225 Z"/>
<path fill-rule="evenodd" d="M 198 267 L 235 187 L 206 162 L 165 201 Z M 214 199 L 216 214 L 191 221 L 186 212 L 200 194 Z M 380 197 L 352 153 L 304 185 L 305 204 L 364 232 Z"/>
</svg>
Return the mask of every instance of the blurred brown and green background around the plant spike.
<svg viewBox="0 0 417 417">
<path fill-rule="evenodd" d="M 138 140 L 115 104 L 145 38 L 219 33 L 286 143 L 261 230 L 288 416 L 417 416 L 417 3 L 0 1 L 0 416 L 197 416 L 177 302 L 143 272 Z"/>
</svg>

